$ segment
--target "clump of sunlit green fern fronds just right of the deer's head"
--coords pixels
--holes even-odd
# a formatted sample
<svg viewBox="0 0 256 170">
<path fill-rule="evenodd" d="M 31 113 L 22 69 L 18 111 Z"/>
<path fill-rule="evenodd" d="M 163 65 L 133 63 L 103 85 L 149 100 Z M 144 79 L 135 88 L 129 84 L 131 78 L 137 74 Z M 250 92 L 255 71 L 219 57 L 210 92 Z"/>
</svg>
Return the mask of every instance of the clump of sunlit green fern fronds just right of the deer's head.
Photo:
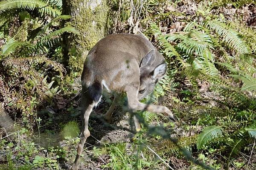
<svg viewBox="0 0 256 170">
<path fill-rule="evenodd" d="M 195 23 L 189 23 L 184 30 L 191 30 Z M 176 57 L 179 63 L 187 68 L 190 65 L 196 70 L 204 71 L 209 75 L 218 75 L 218 70 L 214 65 L 214 56 L 210 52 L 213 49 L 211 37 L 202 31 L 186 31 L 182 34 L 162 35 L 161 31 L 155 24 L 151 24 L 151 32 L 157 35 L 157 40 L 165 50 L 163 51 L 168 57 Z M 173 46 L 170 42 L 176 42 Z M 183 53 L 179 54 L 179 51 Z M 191 59 L 195 56 L 195 59 Z M 188 63 L 186 60 L 192 60 Z"/>
</svg>

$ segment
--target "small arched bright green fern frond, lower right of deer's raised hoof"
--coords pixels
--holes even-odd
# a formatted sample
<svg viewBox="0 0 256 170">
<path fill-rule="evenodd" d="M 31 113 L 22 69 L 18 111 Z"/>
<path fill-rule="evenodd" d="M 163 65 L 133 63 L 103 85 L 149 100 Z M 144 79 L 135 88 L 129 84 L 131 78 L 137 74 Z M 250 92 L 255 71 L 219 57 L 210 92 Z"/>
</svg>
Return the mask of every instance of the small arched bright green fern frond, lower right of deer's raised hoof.
<svg viewBox="0 0 256 170">
<path fill-rule="evenodd" d="M 201 149 L 205 144 L 212 141 L 212 139 L 222 136 L 222 127 L 221 126 L 208 126 L 203 129 L 198 135 L 197 138 L 197 148 Z"/>
</svg>

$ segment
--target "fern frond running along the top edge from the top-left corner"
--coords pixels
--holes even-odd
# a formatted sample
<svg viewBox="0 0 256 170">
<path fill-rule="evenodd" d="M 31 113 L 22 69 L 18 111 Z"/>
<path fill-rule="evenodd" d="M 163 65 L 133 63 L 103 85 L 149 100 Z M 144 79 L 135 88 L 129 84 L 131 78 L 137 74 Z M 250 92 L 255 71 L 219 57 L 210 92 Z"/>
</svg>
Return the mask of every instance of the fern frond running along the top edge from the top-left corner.
<svg viewBox="0 0 256 170">
<path fill-rule="evenodd" d="M 38 8 L 41 16 L 43 15 L 52 15 L 53 17 L 61 14 L 61 11 L 58 9 L 52 8 L 49 1 L 41 0 L 3 0 L 0 2 L 0 11 L 10 10 L 14 8 L 26 9 L 33 11 L 35 8 Z"/>
</svg>

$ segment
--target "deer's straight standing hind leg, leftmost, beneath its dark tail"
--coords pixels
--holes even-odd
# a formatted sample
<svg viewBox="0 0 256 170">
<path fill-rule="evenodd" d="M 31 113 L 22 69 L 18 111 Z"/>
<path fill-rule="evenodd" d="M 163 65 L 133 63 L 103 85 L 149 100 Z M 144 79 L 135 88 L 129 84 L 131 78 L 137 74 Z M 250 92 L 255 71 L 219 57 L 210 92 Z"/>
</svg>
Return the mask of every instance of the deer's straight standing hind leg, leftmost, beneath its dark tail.
<svg viewBox="0 0 256 170">
<path fill-rule="evenodd" d="M 100 83 L 94 83 L 89 88 L 82 87 L 81 92 L 81 113 L 83 116 L 83 126 L 81 129 L 80 142 L 77 148 L 76 159 L 71 167 L 71 170 L 78 170 L 79 159 L 84 148 L 87 137 L 90 136 L 90 131 L 88 130 L 88 121 L 93 106 L 97 105 L 102 97 L 102 85 Z"/>
</svg>

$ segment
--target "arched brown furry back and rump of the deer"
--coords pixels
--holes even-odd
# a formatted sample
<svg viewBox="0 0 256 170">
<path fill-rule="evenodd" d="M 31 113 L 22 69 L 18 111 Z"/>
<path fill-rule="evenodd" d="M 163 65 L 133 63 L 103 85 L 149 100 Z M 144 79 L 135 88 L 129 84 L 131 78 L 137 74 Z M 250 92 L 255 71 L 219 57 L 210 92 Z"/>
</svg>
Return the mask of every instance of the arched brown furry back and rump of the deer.
<svg viewBox="0 0 256 170">
<path fill-rule="evenodd" d="M 82 73 L 82 83 L 104 82 L 111 88 L 124 82 L 139 81 L 140 62 L 154 46 L 142 34 L 112 34 L 100 40 L 90 51 Z M 156 50 L 154 66 L 165 59 Z M 112 85 L 112 84 L 113 85 Z M 119 83 L 119 84 L 118 84 Z M 122 89 L 120 89 L 122 91 Z"/>
</svg>

